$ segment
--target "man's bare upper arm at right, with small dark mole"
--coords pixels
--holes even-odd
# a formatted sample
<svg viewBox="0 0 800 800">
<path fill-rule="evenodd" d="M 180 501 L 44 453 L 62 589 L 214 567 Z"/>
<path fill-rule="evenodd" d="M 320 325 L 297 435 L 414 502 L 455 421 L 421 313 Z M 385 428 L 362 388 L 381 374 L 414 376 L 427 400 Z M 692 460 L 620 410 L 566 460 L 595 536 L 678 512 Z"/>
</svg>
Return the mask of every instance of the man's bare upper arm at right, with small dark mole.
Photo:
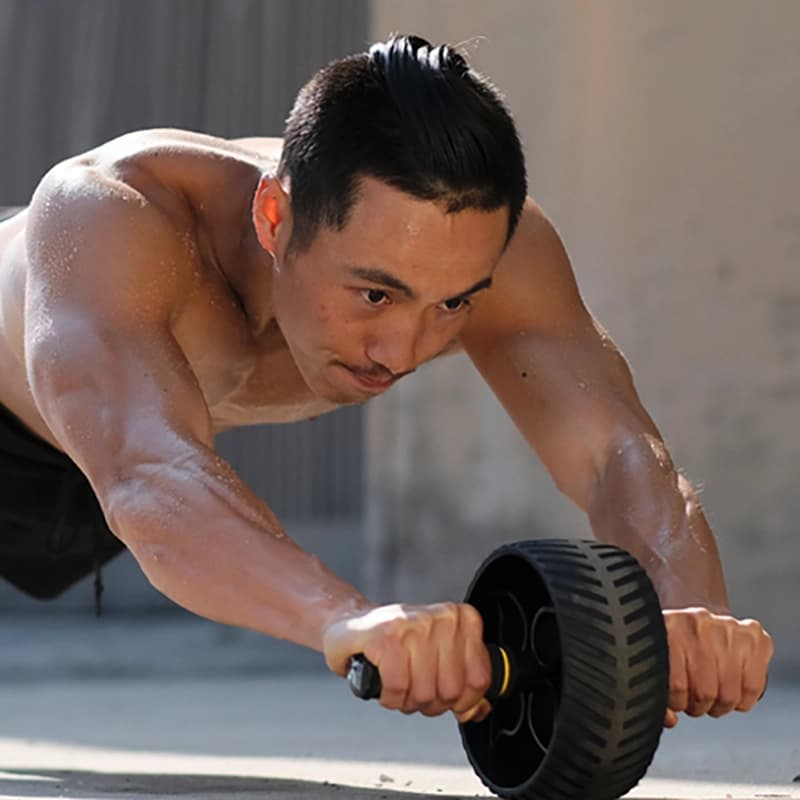
<svg viewBox="0 0 800 800">
<path fill-rule="evenodd" d="M 557 233 L 528 211 L 465 347 L 559 488 L 586 507 L 614 448 L 658 431 Z"/>
</svg>

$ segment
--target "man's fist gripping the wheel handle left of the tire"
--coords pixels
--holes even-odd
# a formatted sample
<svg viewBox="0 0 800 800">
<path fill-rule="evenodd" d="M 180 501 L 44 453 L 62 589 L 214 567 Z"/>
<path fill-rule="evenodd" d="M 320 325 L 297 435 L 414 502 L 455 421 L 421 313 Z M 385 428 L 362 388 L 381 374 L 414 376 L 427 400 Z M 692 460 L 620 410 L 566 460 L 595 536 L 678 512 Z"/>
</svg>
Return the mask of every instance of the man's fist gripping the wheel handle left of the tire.
<svg viewBox="0 0 800 800">
<path fill-rule="evenodd" d="M 464 603 L 389 605 L 333 622 L 323 636 L 325 659 L 337 675 L 363 653 L 379 670 L 380 703 L 405 714 L 452 710 L 459 722 L 481 720 L 491 680 L 483 620 Z"/>
</svg>

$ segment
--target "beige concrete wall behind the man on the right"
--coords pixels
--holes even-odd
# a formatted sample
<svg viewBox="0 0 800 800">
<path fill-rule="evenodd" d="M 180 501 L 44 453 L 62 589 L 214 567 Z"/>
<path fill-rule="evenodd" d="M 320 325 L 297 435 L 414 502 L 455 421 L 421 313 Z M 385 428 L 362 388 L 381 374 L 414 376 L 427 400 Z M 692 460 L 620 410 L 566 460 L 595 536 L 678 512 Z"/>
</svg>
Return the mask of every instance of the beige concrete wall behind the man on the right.
<svg viewBox="0 0 800 800">
<path fill-rule="evenodd" d="M 800 666 L 800 4 L 374 0 L 373 35 L 468 45 L 531 193 L 703 488 L 735 611 Z M 369 412 L 375 592 L 458 596 L 497 543 L 589 533 L 465 359 Z"/>
</svg>

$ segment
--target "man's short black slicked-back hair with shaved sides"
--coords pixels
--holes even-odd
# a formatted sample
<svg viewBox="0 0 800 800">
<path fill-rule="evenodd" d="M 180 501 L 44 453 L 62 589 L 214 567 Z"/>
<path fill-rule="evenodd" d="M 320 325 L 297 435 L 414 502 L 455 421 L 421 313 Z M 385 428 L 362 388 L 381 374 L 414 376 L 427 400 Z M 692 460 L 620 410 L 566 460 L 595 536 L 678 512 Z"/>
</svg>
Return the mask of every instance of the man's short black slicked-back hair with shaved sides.
<svg viewBox="0 0 800 800">
<path fill-rule="evenodd" d="M 526 194 L 522 146 L 499 92 L 454 48 L 413 35 L 314 75 L 286 122 L 278 175 L 290 184 L 295 251 L 323 225 L 344 228 L 364 176 L 448 213 L 507 206 L 506 243 Z"/>
</svg>

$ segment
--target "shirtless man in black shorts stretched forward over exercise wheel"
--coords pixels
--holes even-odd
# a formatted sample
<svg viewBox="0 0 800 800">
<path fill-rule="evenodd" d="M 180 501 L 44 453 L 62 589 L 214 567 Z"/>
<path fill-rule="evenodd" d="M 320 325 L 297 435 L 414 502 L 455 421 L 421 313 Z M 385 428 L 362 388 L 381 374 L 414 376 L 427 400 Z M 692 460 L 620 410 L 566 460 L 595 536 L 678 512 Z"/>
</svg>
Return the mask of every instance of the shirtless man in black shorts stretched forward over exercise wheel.
<svg viewBox="0 0 800 800">
<path fill-rule="evenodd" d="M 282 141 L 144 131 L 64 161 L 0 225 L 0 292 L 0 574 L 21 588 L 52 595 L 124 543 L 197 614 L 338 674 L 363 652 L 388 708 L 483 717 L 474 609 L 370 603 L 213 449 L 463 349 L 597 538 L 652 577 L 666 724 L 763 691 L 770 637 L 729 615 L 696 496 L 526 199 L 513 122 L 449 48 L 334 62 Z"/>
</svg>

